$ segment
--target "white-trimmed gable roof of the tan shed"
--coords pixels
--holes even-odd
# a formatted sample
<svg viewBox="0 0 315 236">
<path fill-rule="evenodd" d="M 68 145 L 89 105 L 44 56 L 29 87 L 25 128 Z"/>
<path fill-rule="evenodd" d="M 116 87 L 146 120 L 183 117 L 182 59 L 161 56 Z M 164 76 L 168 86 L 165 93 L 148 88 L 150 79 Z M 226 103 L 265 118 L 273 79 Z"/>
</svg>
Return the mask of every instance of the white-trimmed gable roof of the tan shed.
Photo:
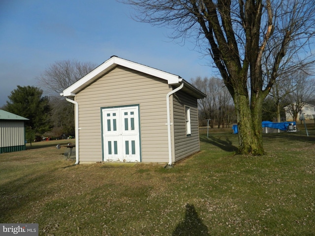
<svg viewBox="0 0 315 236">
<path fill-rule="evenodd" d="M 193 95 L 196 98 L 204 98 L 206 95 L 199 91 L 198 89 L 194 88 L 191 84 L 183 80 L 180 76 L 167 73 L 165 71 L 161 71 L 146 65 L 142 65 L 130 60 L 122 59 L 117 56 L 112 56 L 110 59 L 104 61 L 102 64 L 97 66 L 93 71 L 91 71 L 86 76 L 82 77 L 80 80 L 69 86 L 68 88 L 64 89 L 63 92 L 60 94 L 64 97 L 71 97 L 75 96 L 76 93 L 87 87 L 88 85 L 92 84 L 95 80 L 97 80 L 100 76 L 106 74 L 108 71 L 113 69 L 115 66 L 121 65 L 129 69 L 133 69 L 139 72 L 143 72 L 148 75 L 152 75 L 158 77 L 160 79 L 166 80 L 167 84 L 169 85 L 178 85 L 180 83 L 184 83 L 187 85 L 187 88 L 183 88 L 184 90 L 189 90 L 189 94 Z"/>
</svg>

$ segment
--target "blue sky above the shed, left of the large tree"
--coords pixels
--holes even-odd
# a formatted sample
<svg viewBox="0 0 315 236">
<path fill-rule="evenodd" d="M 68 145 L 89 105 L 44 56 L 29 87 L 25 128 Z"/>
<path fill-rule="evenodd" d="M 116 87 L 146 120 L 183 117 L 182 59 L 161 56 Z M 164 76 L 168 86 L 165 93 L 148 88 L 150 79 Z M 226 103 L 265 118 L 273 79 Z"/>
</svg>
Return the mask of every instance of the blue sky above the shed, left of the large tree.
<svg viewBox="0 0 315 236">
<path fill-rule="evenodd" d="M 176 43 L 170 29 L 132 13 L 116 0 L 0 0 L 0 107 L 17 85 L 39 87 L 35 78 L 60 60 L 99 65 L 116 55 L 188 81 L 215 75 L 193 42 Z"/>
</svg>

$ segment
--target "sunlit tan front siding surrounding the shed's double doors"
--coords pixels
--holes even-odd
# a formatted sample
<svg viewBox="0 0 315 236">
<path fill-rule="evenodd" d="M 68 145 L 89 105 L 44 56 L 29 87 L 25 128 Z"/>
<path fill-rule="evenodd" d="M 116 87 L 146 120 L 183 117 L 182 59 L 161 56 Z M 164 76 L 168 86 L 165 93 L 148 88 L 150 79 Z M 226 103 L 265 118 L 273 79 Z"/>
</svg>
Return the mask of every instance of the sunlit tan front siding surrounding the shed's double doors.
<svg viewBox="0 0 315 236">
<path fill-rule="evenodd" d="M 117 66 L 76 95 L 80 163 L 103 161 L 101 108 L 138 105 L 142 162 L 167 162 L 167 82 Z"/>
</svg>

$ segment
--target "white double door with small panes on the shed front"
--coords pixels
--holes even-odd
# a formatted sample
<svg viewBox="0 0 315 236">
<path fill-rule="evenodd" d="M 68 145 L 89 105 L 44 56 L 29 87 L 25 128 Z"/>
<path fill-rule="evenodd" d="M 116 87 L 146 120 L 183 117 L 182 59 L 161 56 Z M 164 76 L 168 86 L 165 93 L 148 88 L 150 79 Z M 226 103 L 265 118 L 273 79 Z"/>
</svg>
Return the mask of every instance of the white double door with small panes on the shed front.
<svg viewBox="0 0 315 236">
<path fill-rule="evenodd" d="M 139 107 L 102 109 L 105 161 L 140 161 Z"/>
</svg>

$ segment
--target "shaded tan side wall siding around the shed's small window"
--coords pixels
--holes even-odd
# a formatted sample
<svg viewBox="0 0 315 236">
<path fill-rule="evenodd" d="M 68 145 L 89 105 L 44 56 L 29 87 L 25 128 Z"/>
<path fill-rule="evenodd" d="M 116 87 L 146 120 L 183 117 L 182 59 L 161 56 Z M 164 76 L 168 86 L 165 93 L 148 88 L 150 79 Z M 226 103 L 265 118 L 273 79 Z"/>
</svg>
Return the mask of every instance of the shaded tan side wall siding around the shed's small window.
<svg viewBox="0 0 315 236">
<path fill-rule="evenodd" d="M 197 99 L 183 91 L 173 96 L 175 161 L 200 150 Z M 185 106 L 190 108 L 191 135 L 186 135 Z"/>
</svg>

